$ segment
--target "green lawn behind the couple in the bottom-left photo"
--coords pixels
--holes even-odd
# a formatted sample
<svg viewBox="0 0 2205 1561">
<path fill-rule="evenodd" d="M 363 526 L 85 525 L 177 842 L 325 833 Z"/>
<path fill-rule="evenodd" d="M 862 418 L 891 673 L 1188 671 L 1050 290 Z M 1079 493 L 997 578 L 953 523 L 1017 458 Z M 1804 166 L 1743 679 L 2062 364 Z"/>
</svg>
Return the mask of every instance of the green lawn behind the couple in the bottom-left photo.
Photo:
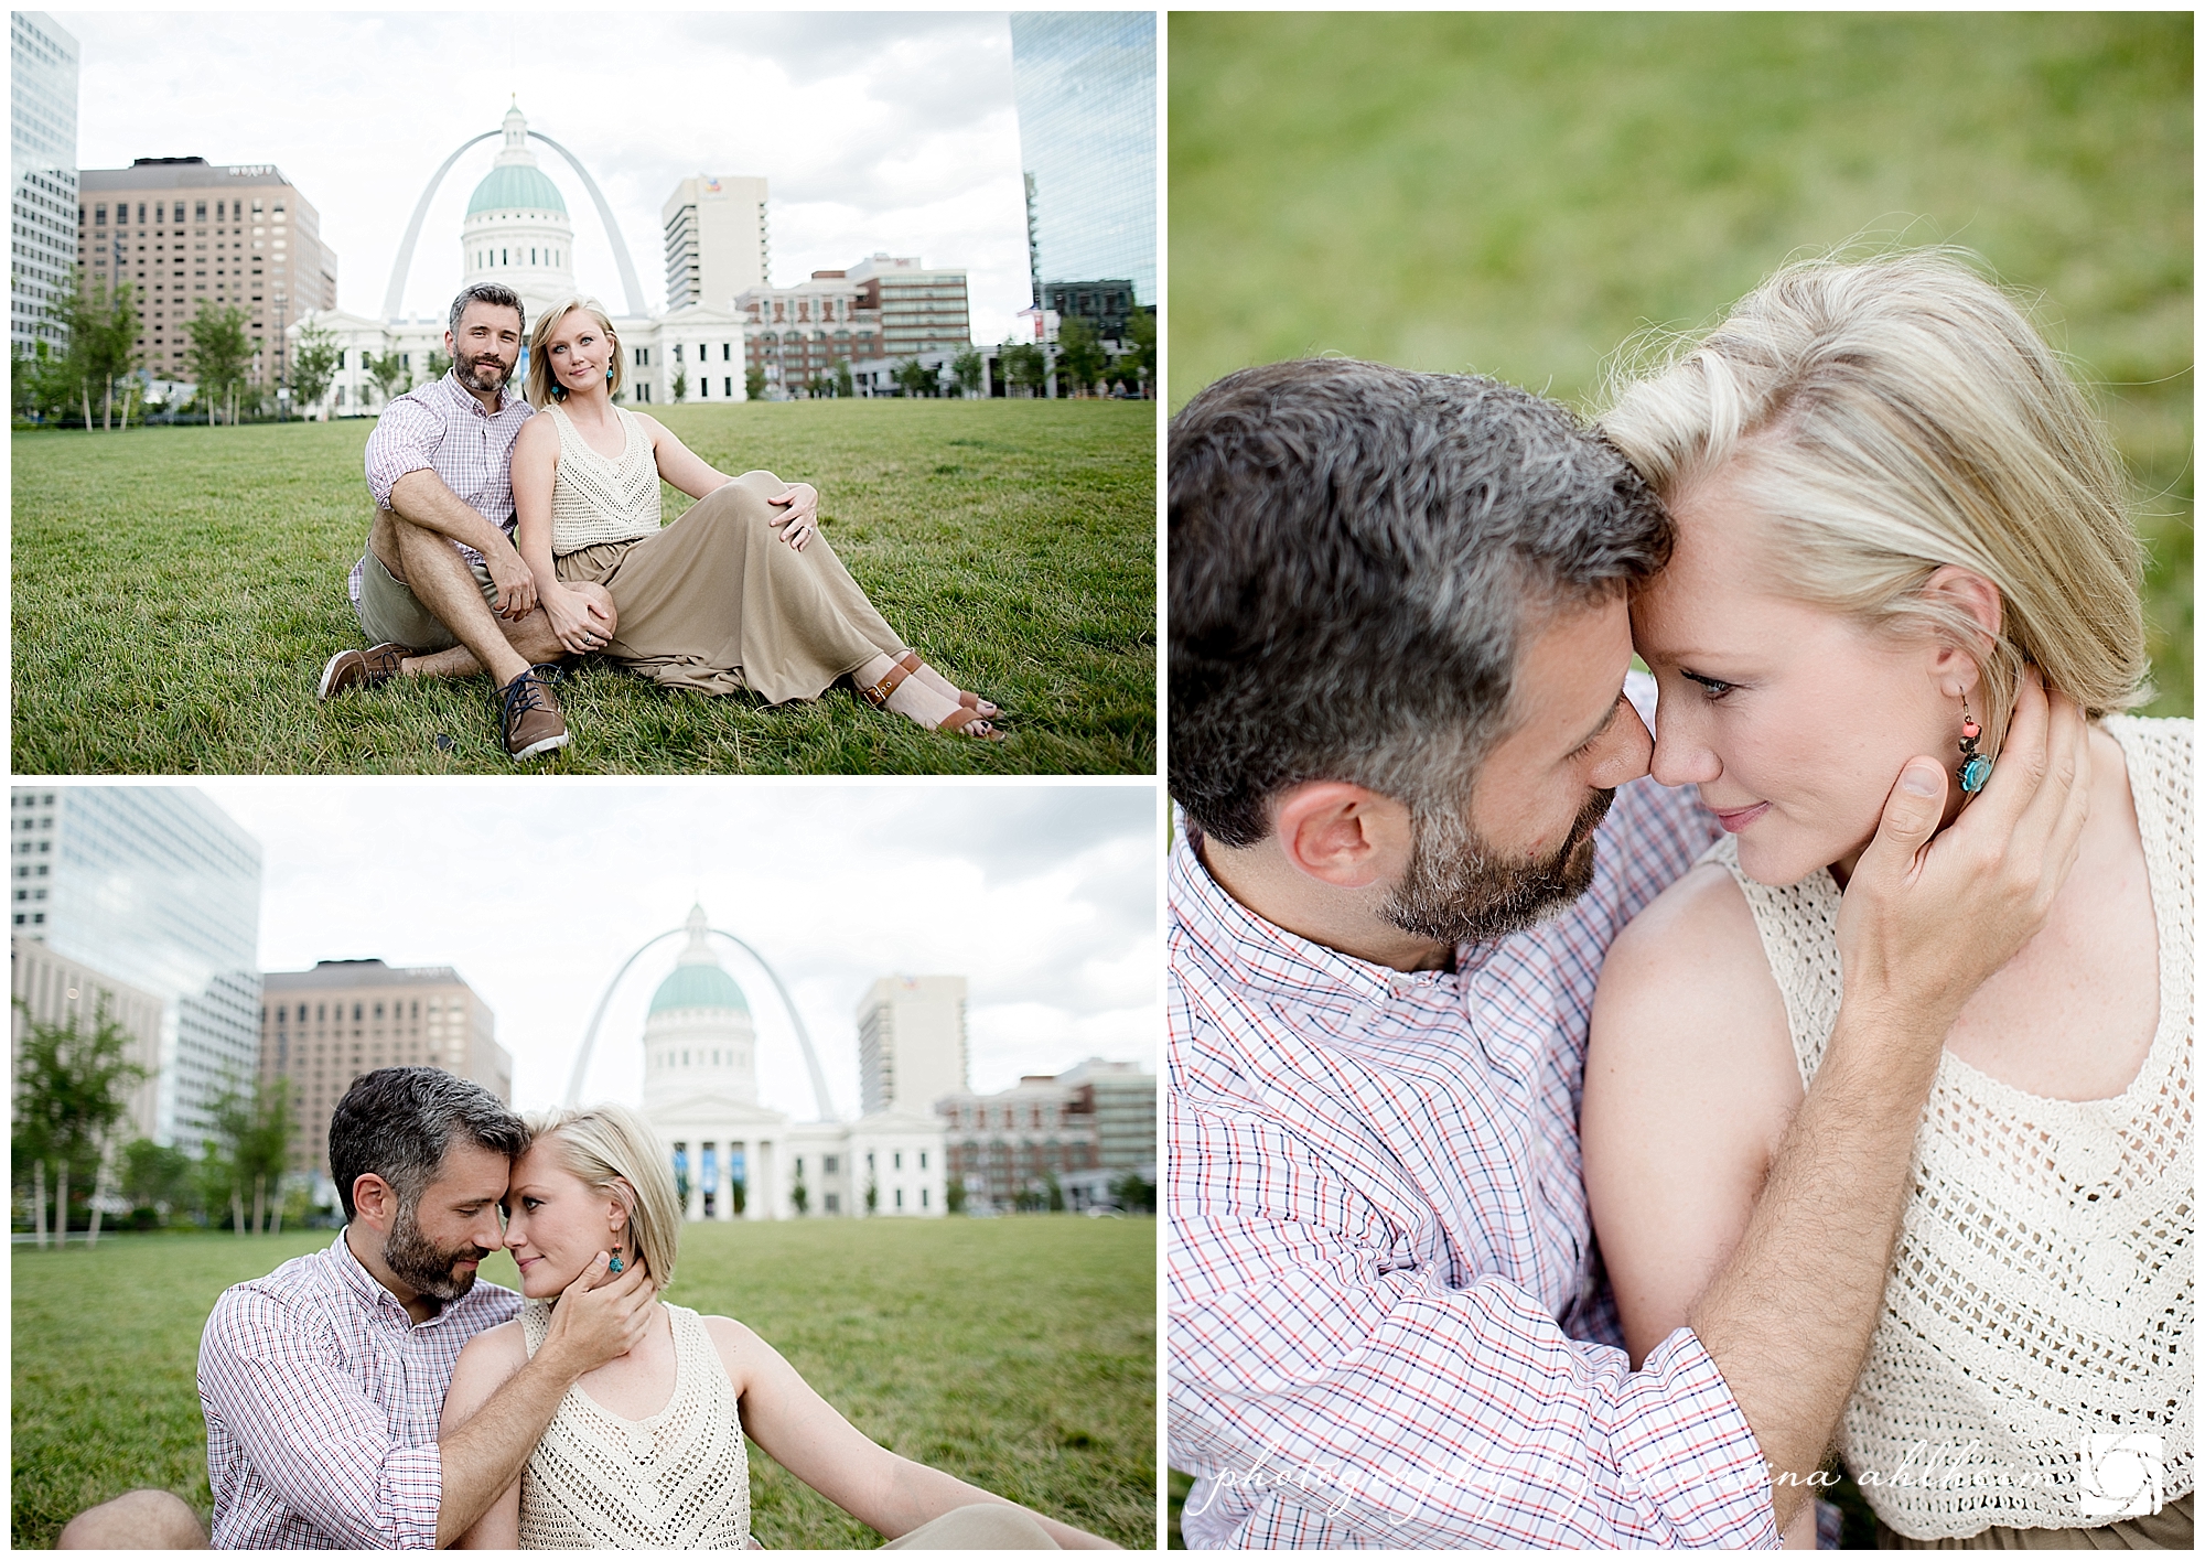
<svg viewBox="0 0 2205 1561">
<path fill-rule="evenodd" d="M 329 1232 L 15 1248 L 13 1543 L 135 1486 L 212 1512 L 198 1334 L 232 1283 Z M 501 1252 L 485 1279 L 518 1285 Z M 668 1299 L 736 1316 L 860 1431 L 1120 1546 L 1155 1546 L 1155 1221 L 686 1226 Z M 750 1449 L 774 1550 L 880 1535 Z"/>
</svg>

